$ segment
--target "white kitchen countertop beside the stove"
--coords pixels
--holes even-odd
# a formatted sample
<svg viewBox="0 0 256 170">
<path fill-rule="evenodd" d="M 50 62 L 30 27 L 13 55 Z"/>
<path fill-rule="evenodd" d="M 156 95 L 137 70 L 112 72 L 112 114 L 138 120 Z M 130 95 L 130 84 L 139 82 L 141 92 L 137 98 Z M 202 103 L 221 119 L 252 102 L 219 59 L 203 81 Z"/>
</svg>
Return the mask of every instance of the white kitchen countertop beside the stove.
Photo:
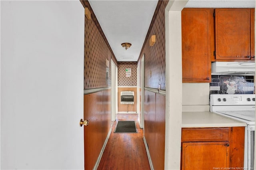
<svg viewBox="0 0 256 170">
<path fill-rule="evenodd" d="M 182 127 L 246 127 L 246 123 L 212 112 L 182 112 Z"/>
</svg>

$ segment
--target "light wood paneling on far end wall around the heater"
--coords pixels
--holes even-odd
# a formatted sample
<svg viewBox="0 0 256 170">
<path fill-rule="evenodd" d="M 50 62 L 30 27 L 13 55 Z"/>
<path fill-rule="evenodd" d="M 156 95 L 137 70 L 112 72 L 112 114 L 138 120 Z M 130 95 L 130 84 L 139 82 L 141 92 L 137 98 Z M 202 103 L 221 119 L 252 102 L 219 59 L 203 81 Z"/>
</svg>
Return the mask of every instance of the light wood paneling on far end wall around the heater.
<svg viewBox="0 0 256 170">
<path fill-rule="evenodd" d="M 133 105 L 121 104 L 121 91 L 134 91 Z M 118 87 L 118 113 L 137 113 L 137 87 Z"/>
</svg>

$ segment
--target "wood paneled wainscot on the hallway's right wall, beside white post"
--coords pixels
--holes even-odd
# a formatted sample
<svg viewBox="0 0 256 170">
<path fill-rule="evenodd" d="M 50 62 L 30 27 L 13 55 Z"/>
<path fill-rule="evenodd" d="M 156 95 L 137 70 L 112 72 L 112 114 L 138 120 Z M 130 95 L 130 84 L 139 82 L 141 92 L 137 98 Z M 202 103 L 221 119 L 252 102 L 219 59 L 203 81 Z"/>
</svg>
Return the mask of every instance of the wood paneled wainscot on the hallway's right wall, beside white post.
<svg viewBox="0 0 256 170">
<path fill-rule="evenodd" d="M 165 96 L 145 90 L 144 137 L 155 170 L 164 169 Z"/>
</svg>

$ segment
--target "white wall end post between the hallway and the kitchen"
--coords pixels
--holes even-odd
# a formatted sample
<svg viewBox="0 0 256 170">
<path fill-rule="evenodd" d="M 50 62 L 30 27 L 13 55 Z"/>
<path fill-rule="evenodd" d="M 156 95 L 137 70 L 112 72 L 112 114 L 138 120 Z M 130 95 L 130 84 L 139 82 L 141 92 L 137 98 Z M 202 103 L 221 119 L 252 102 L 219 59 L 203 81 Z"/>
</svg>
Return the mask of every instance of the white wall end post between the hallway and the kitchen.
<svg viewBox="0 0 256 170">
<path fill-rule="evenodd" d="M 166 170 L 180 169 L 182 119 L 182 44 L 181 10 L 187 1 L 169 1 L 165 10 L 166 23 Z"/>
</svg>

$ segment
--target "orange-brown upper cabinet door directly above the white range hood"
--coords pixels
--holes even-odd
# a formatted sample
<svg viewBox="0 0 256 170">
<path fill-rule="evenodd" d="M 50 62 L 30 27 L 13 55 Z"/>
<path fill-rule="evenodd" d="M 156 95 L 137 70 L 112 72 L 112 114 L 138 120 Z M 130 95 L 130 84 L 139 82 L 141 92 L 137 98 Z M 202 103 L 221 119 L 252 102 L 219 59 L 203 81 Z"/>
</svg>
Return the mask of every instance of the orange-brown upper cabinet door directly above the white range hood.
<svg viewBox="0 0 256 170">
<path fill-rule="evenodd" d="M 215 10 L 216 59 L 250 59 L 250 9 Z"/>
</svg>

